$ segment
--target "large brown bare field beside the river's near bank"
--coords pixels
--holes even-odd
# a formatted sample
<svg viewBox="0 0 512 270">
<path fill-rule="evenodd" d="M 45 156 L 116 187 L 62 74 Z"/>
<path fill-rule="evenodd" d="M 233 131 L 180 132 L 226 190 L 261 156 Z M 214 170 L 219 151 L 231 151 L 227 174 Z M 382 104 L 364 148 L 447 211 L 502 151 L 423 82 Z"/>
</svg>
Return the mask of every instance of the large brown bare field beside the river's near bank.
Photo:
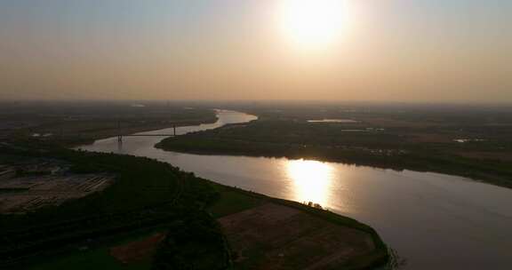
<svg viewBox="0 0 512 270">
<path fill-rule="evenodd" d="M 332 269 L 375 249 L 370 234 L 276 203 L 219 221 L 242 269 Z"/>
</svg>

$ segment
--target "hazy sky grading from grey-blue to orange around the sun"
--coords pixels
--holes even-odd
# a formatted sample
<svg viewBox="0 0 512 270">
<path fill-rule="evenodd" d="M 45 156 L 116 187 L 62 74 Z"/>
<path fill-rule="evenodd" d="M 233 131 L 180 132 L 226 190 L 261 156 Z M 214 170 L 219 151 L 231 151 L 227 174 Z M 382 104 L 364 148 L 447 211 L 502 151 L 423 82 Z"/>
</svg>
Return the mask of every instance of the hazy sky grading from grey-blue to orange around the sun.
<svg viewBox="0 0 512 270">
<path fill-rule="evenodd" d="M 510 0 L 340 0 L 308 48 L 282 2 L 0 0 L 0 99 L 512 102 Z"/>
</svg>

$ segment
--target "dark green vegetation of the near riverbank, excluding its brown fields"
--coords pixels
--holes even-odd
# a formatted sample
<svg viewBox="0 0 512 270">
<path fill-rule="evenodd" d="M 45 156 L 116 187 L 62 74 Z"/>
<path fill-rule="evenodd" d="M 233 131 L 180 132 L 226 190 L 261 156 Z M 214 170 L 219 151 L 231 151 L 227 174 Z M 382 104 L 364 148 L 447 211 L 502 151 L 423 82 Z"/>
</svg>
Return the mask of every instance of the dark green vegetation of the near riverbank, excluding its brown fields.
<svg viewBox="0 0 512 270">
<path fill-rule="evenodd" d="M 148 251 L 147 243 L 158 243 L 152 233 L 157 232 L 160 235 L 157 237 L 160 242 L 158 248 L 154 251 L 149 249 L 142 261 L 133 262 L 135 265 L 146 265 L 140 269 L 148 269 L 154 264 L 172 266 L 172 269 L 185 269 L 191 265 L 195 269 L 224 269 L 232 261 L 237 263 L 236 258 L 231 258 L 229 254 L 242 254 L 243 251 L 228 249 L 226 239 L 232 241 L 236 234 L 226 236 L 227 228 L 217 220 L 265 203 L 281 205 L 285 211 L 295 209 L 292 211 L 301 214 L 300 217 L 306 218 L 304 220 L 324 220 L 315 221 L 323 224 L 316 227 L 319 231 L 323 226 L 351 228 L 361 232 L 354 234 L 361 235 L 360 242 L 367 242 L 366 237 L 370 236 L 372 245 L 369 248 L 342 261 L 338 260 L 338 264 L 363 269 L 360 266 L 380 265 L 388 258 L 386 246 L 372 228 L 325 210 L 214 184 L 170 164 L 148 158 L 34 145 L 24 148 L 26 150 L 4 147 L 2 160 L 8 161 L 13 156 L 47 157 L 71 163 L 70 170 L 76 173 L 112 173 L 116 175 L 116 181 L 103 192 L 58 207 L 36 210 L 23 216 L 0 215 L 4 232 L 0 237 L 6 240 L 0 246 L 0 262 L 4 266 L 23 264 L 29 268 L 40 266 L 35 269 L 69 269 L 76 268 L 84 258 L 92 256 L 92 261 L 98 267 L 102 266 L 102 262 L 109 261 L 111 269 L 121 269 L 124 263 L 116 258 L 124 256 L 119 250 L 128 249 L 122 248 L 126 246 Z M 283 222 L 285 224 L 286 220 Z M 145 235 L 150 233 L 148 241 L 133 236 L 137 232 Z M 344 242 L 341 234 L 333 234 L 336 235 L 346 249 L 355 247 L 351 242 Z M 123 241 L 126 237 L 131 240 Z M 14 242 L 16 245 L 12 245 Z M 268 246 L 260 247 L 257 251 L 267 254 L 274 249 L 275 246 Z M 304 247 L 299 250 L 309 252 Z M 326 250 L 320 256 L 323 258 L 329 254 Z M 254 260 L 260 261 L 259 257 L 247 258 L 251 258 L 252 263 Z"/>
</svg>

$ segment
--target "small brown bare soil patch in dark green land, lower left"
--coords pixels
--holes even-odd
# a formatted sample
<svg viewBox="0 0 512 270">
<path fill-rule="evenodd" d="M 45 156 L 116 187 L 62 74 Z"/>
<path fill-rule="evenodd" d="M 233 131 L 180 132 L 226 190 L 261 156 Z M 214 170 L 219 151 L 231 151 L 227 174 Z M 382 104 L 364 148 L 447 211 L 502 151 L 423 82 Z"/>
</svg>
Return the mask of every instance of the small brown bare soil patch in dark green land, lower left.
<svg viewBox="0 0 512 270">
<path fill-rule="evenodd" d="M 146 239 L 116 246 L 110 249 L 110 255 L 124 264 L 139 262 L 155 253 L 156 247 L 165 238 L 165 234 L 155 234 Z"/>
</svg>

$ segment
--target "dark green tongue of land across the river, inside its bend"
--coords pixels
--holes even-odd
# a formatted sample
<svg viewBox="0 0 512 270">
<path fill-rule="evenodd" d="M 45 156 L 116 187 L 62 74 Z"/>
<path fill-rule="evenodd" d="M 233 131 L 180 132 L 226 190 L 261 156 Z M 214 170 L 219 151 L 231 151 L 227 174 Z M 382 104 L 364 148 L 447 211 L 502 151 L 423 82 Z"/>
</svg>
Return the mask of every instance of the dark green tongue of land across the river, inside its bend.
<svg viewBox="0 0 512 270">
<path fill-rule="evenodd" d="M 398 126 L 379 121 L 325 123 L 267 115 L 251 123 L 164 139 L 156 147 L 199 155 L 303 158 L 396 171 L 434 171 L 512 187 L 512 160 L 508 155 L 512 145 L 506 136 L 453 141 L 450 138 L 478 135 L 455 134 L 465 126 L 430 127 L 412 117 Z M 392 118 L 385 121 L 397 122 Z M 508 126 L 501 129 L 505 128 Z M 484 131 L 497 132 L 491 127 Z M 441 139 L 429 138 L 434 132 L 441 134 L 437 136 Z"/>
</svg>

